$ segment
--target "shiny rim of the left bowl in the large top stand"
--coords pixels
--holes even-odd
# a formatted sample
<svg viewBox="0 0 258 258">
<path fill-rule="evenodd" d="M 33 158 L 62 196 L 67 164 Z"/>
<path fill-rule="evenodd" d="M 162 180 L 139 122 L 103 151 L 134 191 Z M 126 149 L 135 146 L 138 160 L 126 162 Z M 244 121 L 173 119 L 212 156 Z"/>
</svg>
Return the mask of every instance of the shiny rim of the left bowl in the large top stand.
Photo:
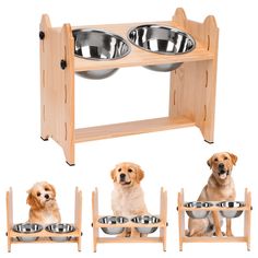
<svg viewBox="0 0 258 258">
<path fill-rule="evenodd" d="M 128 50 L 126 51 L 125 55 L 122 55 L 120 57 L 112 58 L 112 59 L 83 57 L 83 56 L 77 55 L 73 51 L 74 57 L 86 59 L 86 60 L 90 60 L 90 61 L 115 61 L 115 60 L 118 60 L 118 59 L 121 59 L 121 58 L 128 56 L 131 52 L 131 46 L 128 43 L 128 40 L 126 38 L 124 38 L 122 36 L 118 35 L 118 34 L 115 34 L 115 33 L 112 33 L 112 32 L 105 31 L 105 30 L 99 30 L 99 28 L 75 28 L 75 30 L 72 30 L 72 36 L 73 36 L 74 43 L 75 43 L 75 37 L 74 37 L 73 33 L 77 33 L 77 32 L 101 32 L 101 33 L 107 34 L 107 35 L 109 35 L 112 37 L 116 37 L 117 39 L 119 39 L 122 43 L 125 43 L 127 45 L 127 47 L 128 47 Z"/>
</svg>

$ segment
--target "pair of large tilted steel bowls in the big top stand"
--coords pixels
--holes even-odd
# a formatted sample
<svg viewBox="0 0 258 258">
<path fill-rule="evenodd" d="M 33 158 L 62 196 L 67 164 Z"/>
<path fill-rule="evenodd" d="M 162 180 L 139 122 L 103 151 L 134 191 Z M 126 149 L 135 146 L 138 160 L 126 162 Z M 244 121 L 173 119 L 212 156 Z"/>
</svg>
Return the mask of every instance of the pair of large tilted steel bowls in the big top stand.
<svg viewBox="0 0 258 258">
<path fill-rule="evenodd" d="M 102 61 L 116 60 L 130 52 L 130 45 L 120 36 L 101 30 L 74 30 L 74 54 L 77 57 Z M 195 39 L 185 32 L 174 27 L 155 24 L 140 25 L 129 30 L 128 39 L 136 47 L 163 55 L 187 54 L 195 49 Z M 154 71 L 172 71 L 181 62 L 148 66 Z M 79 75 L 89 79 L 104 79 L 118 69 L 82 71 Z"/>
</svg>

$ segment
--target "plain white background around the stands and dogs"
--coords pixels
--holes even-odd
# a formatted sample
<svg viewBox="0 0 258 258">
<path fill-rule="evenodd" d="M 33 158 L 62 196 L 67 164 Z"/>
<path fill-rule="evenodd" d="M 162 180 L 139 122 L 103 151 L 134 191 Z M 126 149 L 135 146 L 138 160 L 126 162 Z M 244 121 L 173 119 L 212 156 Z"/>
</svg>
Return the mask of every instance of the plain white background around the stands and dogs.
<svg viewBox="0 0 258 258">
<path fill-rule="evenodd" d="M 77 165 L 69 167 L 62 150 L 39 138 L 40 15 L 48 13 L 52 26 L 129 23 L 169 20 L 183 7 L 190 20 L 202 22 L 213 14 L 220 27 L 215 142 L 207 144 L 197 128 L 171 130 L 80 143 Z M 257 257 L 257 24 L 256 1 L 139 0 L 139 1 L 20 1 L 0 3 L 0 257 Z M 103 81 L 77 79 L 77 127 L 165 116 L 168 104 L 168 74 L 143 68 L 120 69 Z M 207 160 L 214 152 L 238 156 L 234 168 L 237 199 L 244 189 L 253 192 L 251 251 L 245 244 L 185 244 L 178 251 L 177 191 L 185 188 L 196 199 L 207 183 Z M 91 191 L 99 189 L 103 213 L 110 213 L 109 177 L 115 164 L 132 161 L 145 171 L 142 187 L 152 213 L 159 212 L 160 187 L 168 190 L 167 251 L 160 244 L 98 245 L 92 253 Z M 57 188 L 64 222 L 73 221 L 73 192 L 83 190 L 83 245 L 13 245 L 7 253 L 5 191 L 14 191 L 14 222 L 27 220 L 26 190 L 39 180 Z M 233 222 L 241 233 L 242 220 Z"/>
</svg>

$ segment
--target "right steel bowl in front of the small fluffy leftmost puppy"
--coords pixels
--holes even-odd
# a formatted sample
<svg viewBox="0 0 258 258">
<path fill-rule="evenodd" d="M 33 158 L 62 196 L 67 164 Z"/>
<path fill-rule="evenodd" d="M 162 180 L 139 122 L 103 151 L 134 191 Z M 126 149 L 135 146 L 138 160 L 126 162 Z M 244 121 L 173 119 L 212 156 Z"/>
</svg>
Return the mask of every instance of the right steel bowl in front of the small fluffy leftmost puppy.
<svg viewBox="0 0 258 258">
<path fill-rule="evenodd" d="M 61 234 L 66 233 L 71 233 L 75 231 L 75 227 L 72 224 L 67 224 L 67 223 L 55 223 L 55 224 L 49 224 L 45 227 L 47 232 L 50 233 L 56 233 L 58 236 L 57 237 L 50 237 L 51 241 L 56 242 L 64 242 L 64 241 L 70 241 L 71 237 L 62 237 L 60 236 Z"/>
</svg>

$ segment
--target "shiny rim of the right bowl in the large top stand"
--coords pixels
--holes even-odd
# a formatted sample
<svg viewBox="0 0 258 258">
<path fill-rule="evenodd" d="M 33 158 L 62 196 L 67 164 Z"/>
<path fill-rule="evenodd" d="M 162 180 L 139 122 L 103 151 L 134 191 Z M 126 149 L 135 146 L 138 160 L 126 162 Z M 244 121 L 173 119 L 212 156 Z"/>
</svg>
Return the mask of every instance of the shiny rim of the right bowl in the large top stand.
<svg viewBox="0 0 258 258">
<path fill-rule="evenodd" d="M 184 36 L 187 36 L 187 37 L 189 37 L 189 38 L 191 39 L 191 42 L 192 42 L 192 48 L 191 48 L 190 50 L 188 50 L 188 51 L 185 51 L 185 52 L 165 52 L 165 51 L 153 51 L 153 50 L 150 50 L 150 49 L 148 49 L 148 48 L 141 47 L 141 46 L 137 45 L 133 40 L 131 40 L 130 37 L 129 37 L 129 35 L 130 35 L 130 33 L 131 33 L 132 31 L 138 30 L 138 28 L 140 28 L 140 27 L 145 27 L 145 26 L 148 26 L 148 27 L 152 27 L 152 26 L 153 26 L 153 27 L 159 27 L 159 28 L 166 28 L 166 30 L 171 30 L 171 31 L 173 31 L 173 32 L 180 33 L 180 34 L 183 34 Z M 127 32 L 127 38 L 128 38 L 128 40 L 129 40 L 133 46 L 136 46 L 136 47 L 138 47 L 138 48 L 140 48 L 140 49 L 142 49 L 142 50 L 145 50 L 145 51 L 149 51 L 149 52 L 153 52 L 153 54 L 167 55 L 167 56 L 177 56 L 177 55 L 188 54 L 188 52 L 194 51 L 195 48 L 196 48 L 196 40 L 195 40 L 195 38 L 194 38 L 189 33 L 186 33 L 186 32 L 184 32 L 184 31 L 181 31 L 181 30 L 179 30 L 179 28 L 173 27 L 173 26 L 159 25 L 159 24 L 154 24 L 154 23 L 150 23 L 150 24 L 146 23 L 146 24 L 141 24 L 141 25 L 134 26 L 134 27 L 130 27 L 130 28 L 128 30 L 128 32 Z"/>
</svg>

